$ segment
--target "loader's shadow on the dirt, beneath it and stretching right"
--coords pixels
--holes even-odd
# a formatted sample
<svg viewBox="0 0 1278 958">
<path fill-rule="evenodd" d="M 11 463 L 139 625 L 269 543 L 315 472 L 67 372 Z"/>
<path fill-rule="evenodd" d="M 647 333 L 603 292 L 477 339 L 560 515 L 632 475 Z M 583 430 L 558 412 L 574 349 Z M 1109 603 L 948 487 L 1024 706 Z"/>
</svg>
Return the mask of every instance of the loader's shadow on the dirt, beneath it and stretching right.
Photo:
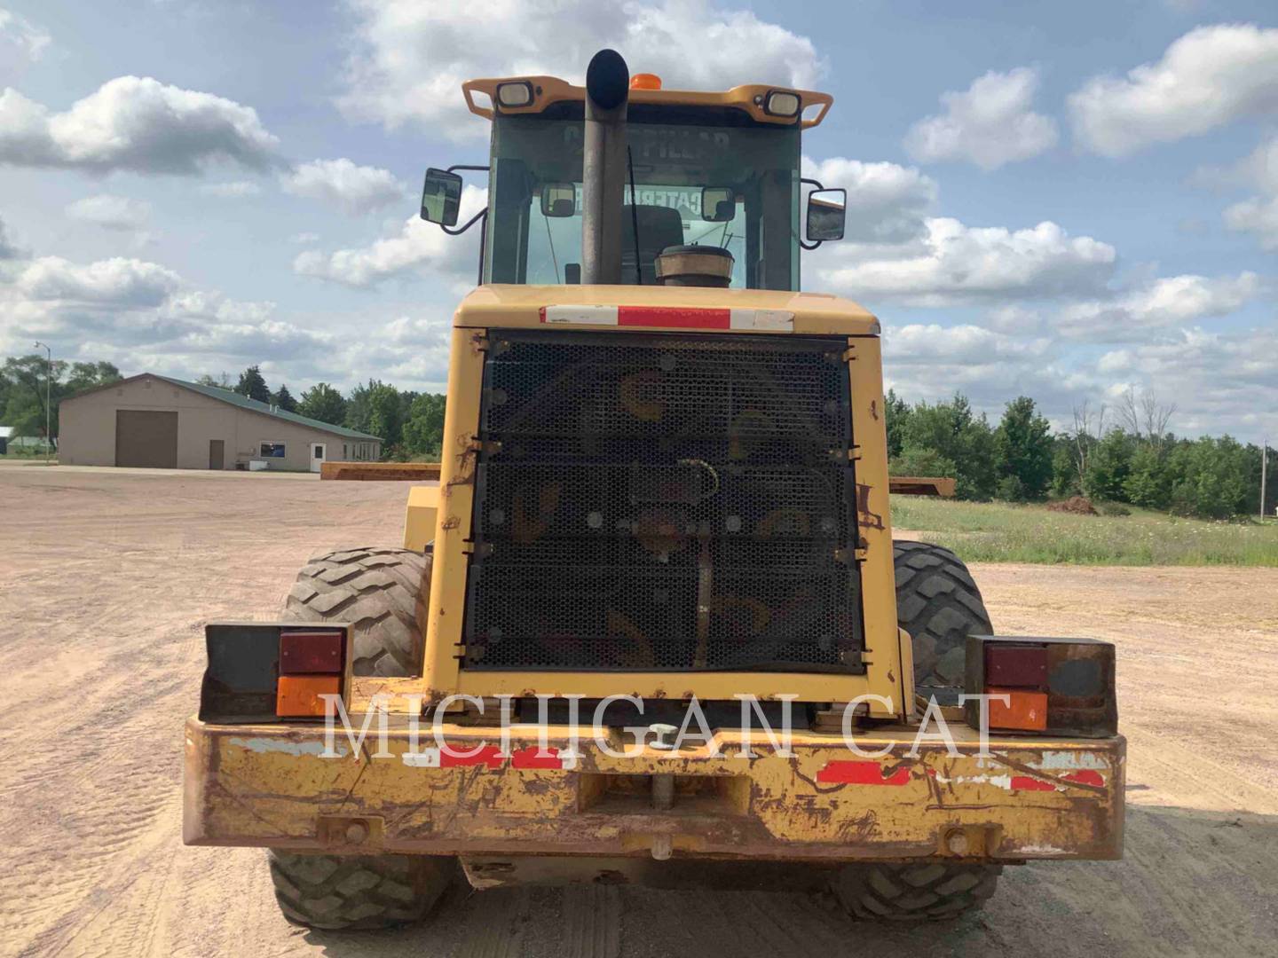
<svg viewBox="0 0 1278 958">
<path fill-rule="evenodd" d="M 1278 940 L 1275 888 L 1278 816 L 1130 805 L 1123 861 L 1008 867 L 984 911 L 947 922 L 854 922 L 781 890 L 455 888 L 423 925 L 305 940 L 335 958 L 1255 955 Z"/>
</svg>

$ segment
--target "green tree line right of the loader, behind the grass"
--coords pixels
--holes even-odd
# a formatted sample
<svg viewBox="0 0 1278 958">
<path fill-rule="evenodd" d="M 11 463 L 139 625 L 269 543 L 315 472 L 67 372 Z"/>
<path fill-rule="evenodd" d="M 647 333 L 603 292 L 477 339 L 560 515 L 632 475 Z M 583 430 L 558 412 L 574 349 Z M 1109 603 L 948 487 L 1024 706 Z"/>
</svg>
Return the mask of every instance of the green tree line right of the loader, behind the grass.
<svg viewBox="0 0 1278 958">
<path fill-rule="evenodd" d="M 1008 402 L 997 424 L 961 393 L 911 405 L 889 391 L 884 406 L 891 473 L 951 476 L 964 499 L 1085 496 L 1200 519 L 1260 511 L 1260 447 L 1229 436 L 1177 437 L 1167 428 L 1174 406 L 1151 393 L 1128 391 L 1114 409 L 1084 404 L 1058 432 L 1028 396 Z M 1278 479 L 1266 515 L 1275 503 Z"/>
</svg>

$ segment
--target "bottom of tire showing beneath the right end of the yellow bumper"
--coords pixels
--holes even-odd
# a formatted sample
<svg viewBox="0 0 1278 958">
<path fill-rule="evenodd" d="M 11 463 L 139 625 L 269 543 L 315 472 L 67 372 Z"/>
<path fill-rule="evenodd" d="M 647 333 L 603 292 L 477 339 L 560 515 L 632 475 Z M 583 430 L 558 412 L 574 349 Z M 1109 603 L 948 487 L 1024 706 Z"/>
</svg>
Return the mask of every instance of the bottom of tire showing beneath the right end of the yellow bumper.
<svg viewBox="0 0 1278 958">
<path fill-rule="evenodd" d="M 1002 865 L 935 861 L 847 865 L 831 888 L 854 918 L 943 921 L 980 908 L 1002 871 Z"/>
</svg>

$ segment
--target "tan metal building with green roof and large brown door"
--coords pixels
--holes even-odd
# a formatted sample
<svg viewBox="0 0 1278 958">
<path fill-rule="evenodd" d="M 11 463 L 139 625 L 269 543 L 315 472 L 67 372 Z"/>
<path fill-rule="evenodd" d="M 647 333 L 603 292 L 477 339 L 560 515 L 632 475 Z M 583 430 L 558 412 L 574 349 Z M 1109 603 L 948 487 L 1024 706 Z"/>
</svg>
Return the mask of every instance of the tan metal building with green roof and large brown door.
<svg viewBox="0 0 1278 958">
<path fill-rule="evenodd" d="M 153 373 L 64 399 L 58 420 L 65 465 L 318 473 L 325 460 L 381 457 L 376 436 Z"/>
</svg>

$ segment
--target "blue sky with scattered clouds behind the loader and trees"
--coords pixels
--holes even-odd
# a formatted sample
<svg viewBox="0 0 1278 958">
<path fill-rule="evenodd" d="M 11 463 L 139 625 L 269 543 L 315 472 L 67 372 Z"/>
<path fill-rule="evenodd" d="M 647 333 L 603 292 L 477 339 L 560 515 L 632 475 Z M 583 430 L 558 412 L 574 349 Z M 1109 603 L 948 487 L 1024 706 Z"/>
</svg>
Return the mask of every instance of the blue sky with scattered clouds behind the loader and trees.
<svg viewBox="0 0 1278 958">
<path fill-rule="evenodd" d="M 850 239 L 804 287 L 881 316 L 905 396 L 1068 425 L 1135 388 L 1177 432 L 1278 436 L 1273 3 L 0 10 L 3 354 L 442 388 L 474 236 L 412 217 L 427 165 L 483 160 L 459 83 L 616 46 L 667 87 L 835 95 L 804 152 Z"/>
</svg>

